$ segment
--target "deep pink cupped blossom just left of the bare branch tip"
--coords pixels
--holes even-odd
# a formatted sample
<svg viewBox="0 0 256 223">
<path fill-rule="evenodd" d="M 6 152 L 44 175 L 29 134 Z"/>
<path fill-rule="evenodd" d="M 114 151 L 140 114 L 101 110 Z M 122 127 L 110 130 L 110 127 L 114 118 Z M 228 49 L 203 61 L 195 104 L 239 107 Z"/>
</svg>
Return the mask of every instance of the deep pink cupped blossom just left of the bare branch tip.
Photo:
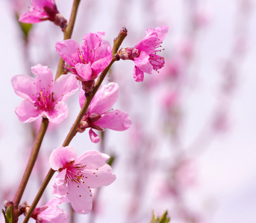
<svg viewBox="0 0 256 223">
<path fill-rule="evenodd" d="M 95 80 L 112 59 L 110 45 L 102 42 L 102 33 L 87 33 L 80 45 L 73 39 L 57 42 L 56 51 L 66 62 L 66 68 L 78 80 Z"/>
</svg>

